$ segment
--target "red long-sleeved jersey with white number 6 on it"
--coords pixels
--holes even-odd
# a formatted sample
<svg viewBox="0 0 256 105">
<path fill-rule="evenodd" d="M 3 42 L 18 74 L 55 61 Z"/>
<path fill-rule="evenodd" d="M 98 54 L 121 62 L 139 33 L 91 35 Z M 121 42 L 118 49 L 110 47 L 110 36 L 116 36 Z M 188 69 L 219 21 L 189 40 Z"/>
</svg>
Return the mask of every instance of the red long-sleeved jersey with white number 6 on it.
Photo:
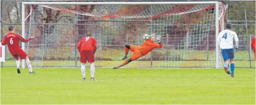
<svg viewBox="0 0 256 105">
<path fill-rule="evenodd" d="M 8 34 L 5 34 L 1 44 L 7 44 L 10 54 L 15 55 L 20 50 L 19 40 L 21 40 L 22 42 L 27 42 L 31 40 L 31 38 L 25 39 L 18 33 L 10 32 Z"/>
</svg>

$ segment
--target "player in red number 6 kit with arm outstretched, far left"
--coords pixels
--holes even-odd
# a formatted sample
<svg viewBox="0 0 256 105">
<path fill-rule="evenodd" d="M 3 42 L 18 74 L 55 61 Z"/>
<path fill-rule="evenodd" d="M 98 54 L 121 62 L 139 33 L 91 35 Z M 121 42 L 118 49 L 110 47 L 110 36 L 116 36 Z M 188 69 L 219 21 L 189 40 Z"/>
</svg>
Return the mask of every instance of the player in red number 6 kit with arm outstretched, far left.
<svg viewBox="0 0 256 105">
<path fill-rule="evenodd" d="M 35 36 L 29 38 L 29 39 L 24 39 L 20 34 L 15 33 L 14 26 L 9 26 L 9 33 L 5 34 L 3 40 L 2 40 L 2 45 L 7 44 L 10 54 L 13 55 L 13 57 L 16 59 L 16 66 L 17 66 L 17 72 L 20 74 L 20 59 L 25 59 L 27 63 L 27 67 L 29 67 L 29 73 L 35 73 L 32 71 L 32 66 L 29 60 L 29 57 L 27 57 L 27 54 L 25 51 L 23 51 L 20 48 L 19 41 L 21 40 L 22 42 L 28 42 L 31 39 L 34 39 Z"/>
</svg>

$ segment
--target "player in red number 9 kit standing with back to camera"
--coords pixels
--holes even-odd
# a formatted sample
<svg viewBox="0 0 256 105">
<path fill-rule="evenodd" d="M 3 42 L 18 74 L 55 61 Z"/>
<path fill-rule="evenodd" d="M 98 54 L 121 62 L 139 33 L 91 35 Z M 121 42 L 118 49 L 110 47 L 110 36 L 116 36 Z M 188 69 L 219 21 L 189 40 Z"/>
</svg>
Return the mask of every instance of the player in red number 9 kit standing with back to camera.
<svg viewBox="0 0 256 105">
<path fill-rule="evenodd" d="M 94 79 L 95 66 L 94 66 L 94 53 L 97 50 L 97 42 L 96 39 L 92 37 L 92 33 L 86 33 L 86 37 L 82 38 L 80 42 L 77 44 L 77 49 L 80 53 L 80 62 L 81 64 L 81 72 L 82 77 L 85 79 L 85 63 L 91 63 L 91 80 L 97 81 Z"/>
</svg>

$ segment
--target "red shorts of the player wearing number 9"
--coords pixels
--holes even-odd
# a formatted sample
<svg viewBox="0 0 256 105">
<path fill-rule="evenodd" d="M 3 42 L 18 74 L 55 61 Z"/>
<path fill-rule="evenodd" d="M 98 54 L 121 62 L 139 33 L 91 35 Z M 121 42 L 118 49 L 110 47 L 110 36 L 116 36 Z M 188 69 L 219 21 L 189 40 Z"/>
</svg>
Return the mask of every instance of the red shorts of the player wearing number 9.
<svg viewBox="0 0 256 105">
<path fill-rule="evenodd" d="M 81 53 L 80 53 L 80 62 L 86 63 L 86 61 L 94 62 L 94 55 L 93 55 L 92 51 L 90 51 L 90 50 L 81 51 Z"/>
</svg>

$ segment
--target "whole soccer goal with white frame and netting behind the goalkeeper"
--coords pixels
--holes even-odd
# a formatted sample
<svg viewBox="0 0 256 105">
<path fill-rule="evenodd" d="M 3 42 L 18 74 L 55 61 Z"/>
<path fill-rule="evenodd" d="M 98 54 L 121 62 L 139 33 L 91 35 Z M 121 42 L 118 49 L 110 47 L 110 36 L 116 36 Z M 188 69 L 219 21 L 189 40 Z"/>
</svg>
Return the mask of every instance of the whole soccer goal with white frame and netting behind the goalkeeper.
<svg viewBox="0 0 256 105">
<path fill-rule="evenodd" d="M 163 48 L 126 68 L 219 68 L 215 40 L 224 30 L 226 7 L 220 2 L 23 2 L 22 36 L 36 39 L 22 48 L 33 67 L 79 67 L 76 45 L 90 32 L 97 39 L 96 67 L 112 68 L 123 62 L 125 44 L 140 45 L 143 34 L 155 33 Z"/>
</svg>

